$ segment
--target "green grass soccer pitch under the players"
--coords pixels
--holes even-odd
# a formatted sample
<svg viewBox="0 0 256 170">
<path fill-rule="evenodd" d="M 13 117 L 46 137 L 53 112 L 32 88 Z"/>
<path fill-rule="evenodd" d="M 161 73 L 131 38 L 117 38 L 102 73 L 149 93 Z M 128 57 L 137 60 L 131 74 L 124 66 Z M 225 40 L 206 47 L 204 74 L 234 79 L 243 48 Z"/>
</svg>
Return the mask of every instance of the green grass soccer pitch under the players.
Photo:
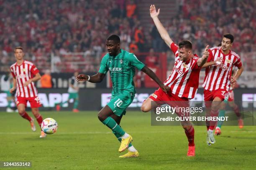
<svg viewBox="0 0 256 170">
<path fill-rule="evenodd" d="M 29 115 L 32 115 L 29 112 Z M 128 111 L 122 128 L 133 136 L 138 158 L 118 158 L 120 143 L 97 112 L 41 112 L 59 128 L 40 139 L 18 113 L 0 112 L 0 161 L 29 161 L 31 169 L 255 169 L 256 127 L 223 126 L 216 143 L 206 144 L 205 126 L 195 126 L 196 156 L 187 157 L 181 126 L 151 126 L 150 113 Z M 6 168 L 3 168 L 6 169 Z M 17 169 L 17 168 L 13 168 Z M 20 168 L 23 169 L 23 168 Z"/>
</svg>

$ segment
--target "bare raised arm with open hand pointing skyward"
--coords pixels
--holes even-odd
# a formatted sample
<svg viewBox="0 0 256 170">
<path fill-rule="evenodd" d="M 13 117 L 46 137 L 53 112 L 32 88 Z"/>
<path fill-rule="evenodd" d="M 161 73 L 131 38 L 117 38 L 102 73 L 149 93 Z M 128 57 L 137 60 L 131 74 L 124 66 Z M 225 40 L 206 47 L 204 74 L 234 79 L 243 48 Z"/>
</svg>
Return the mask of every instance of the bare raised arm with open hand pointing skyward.
<svg viewBox="0 0 256 170">
<path fill-rule="evenodd" d="M 153 19 L 153 21 L 156 25 L 156 28 L 157 28 L 159 34 L 161 35 L 161 38 L 168 45 L 168 47 L 170 47 L 173 41 L 172 41 L 171 37 L 169 36 L 168 32 L 166 31 L 166 29 L 164 28 L 164 26 L 162 25 L 162 23 L 160 22 L 159 18 L 158 18 L 158 15 L 160 13 L 160 9 L 158 9 L 158 11 L 156 12 L 155 5 L 151 5 L 150 9 L 149 9 L 149 12 L 150 12 L 151 18 Z"/>
</svg>

